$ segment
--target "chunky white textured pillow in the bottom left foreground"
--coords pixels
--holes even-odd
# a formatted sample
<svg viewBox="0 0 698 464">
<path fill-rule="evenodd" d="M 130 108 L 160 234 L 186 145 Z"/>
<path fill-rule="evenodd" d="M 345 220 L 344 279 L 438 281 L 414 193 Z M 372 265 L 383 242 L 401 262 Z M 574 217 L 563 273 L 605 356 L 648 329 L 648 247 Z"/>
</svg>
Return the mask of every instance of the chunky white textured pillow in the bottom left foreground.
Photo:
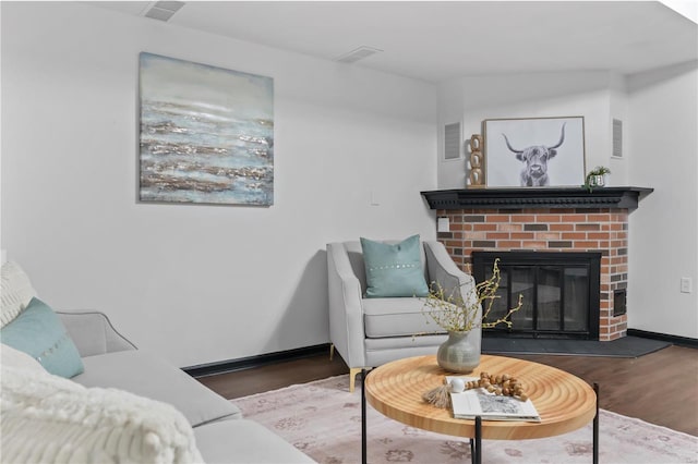
<svg viewBox="0 0 698 464">
<path fill-rule="evenodd" d="M 1 379 L 3 462 L 203 461 L 192 428 L 169 404 L 4 363 Z"/>
</svg>

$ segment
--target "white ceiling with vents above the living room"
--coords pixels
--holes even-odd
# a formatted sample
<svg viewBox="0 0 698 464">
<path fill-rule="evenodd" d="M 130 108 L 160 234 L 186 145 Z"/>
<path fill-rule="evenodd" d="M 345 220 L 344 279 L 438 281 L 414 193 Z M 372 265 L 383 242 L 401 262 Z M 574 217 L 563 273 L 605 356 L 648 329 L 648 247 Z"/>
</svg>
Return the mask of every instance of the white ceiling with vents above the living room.
<svg viewBox="0 0 698 464">
<path fill-rule="evenodd" d="M 143 16 L 168 2 L 91 3 Z M 189 1 L 168 23 L 325 60 L 372 47 L 351 65 L 432 83 L 698 59 L 698 24 L 654 1 Z"/>
</svg>

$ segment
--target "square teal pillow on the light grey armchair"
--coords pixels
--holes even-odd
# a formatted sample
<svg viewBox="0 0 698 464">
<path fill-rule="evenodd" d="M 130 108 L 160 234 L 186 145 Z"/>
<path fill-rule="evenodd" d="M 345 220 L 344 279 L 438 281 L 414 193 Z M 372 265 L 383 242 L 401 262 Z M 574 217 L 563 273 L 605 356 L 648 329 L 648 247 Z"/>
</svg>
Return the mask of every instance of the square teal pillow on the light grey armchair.
<svg viewBox="0 0 698 464">
<path fill-rule="evenodd" d="M 419 235 L 387 244 L 361 237 L 368 298 L 426 296 Z"/>
</svg>

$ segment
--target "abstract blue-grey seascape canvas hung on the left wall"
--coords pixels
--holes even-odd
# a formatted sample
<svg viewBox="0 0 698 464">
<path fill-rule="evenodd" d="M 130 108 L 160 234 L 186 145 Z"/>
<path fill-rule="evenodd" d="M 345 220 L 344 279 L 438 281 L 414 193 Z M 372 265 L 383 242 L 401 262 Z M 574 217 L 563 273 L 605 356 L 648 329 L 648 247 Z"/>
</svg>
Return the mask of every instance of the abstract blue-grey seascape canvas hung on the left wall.
<svg viewBox="0 0 698 464">
<path fill-rule="evenodd" d="M 274 80 L 140 57 L 141 202 L 274 203 Z"/>
</svg>

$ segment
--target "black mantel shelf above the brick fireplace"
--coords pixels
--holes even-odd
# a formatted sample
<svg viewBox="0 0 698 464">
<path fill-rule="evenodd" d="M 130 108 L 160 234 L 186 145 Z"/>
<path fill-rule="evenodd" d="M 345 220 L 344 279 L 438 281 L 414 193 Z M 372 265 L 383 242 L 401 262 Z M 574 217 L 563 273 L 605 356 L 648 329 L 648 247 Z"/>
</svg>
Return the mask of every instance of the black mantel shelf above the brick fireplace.
<svg viewBox="0 0 698 464">
<path fill-rule="evenodd" d="M 647 187 L 505 187 L 421 192 L 431 209 L 623 208 L 636 209 Z"/>
</svg>

